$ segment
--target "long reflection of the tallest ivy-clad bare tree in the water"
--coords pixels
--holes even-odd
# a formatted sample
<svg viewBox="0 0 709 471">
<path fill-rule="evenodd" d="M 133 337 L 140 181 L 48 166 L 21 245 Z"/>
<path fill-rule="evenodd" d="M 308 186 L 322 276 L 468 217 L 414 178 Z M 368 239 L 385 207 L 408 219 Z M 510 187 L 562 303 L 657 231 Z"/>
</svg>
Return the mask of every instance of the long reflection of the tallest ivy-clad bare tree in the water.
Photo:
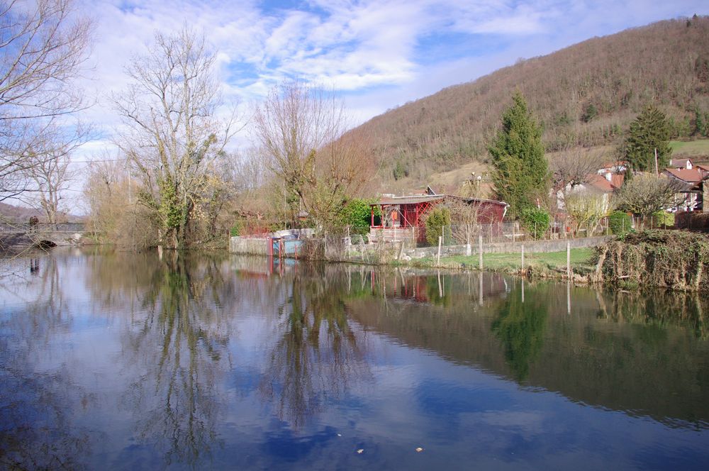
<svg viewBox="0 0 709 471">
<path fill-rule="evenodd" d="M 131 385 L 125 402 L 140 438 L 163 450 L 166 465 L 196 467 L 218 444 L 216 384 L 228 370 L 221 367 L 229 340 L 220 309 L 225 279 L 216 260 L 200 260 L 167 253 L 143 297 L 147 316 L 128 336 L 147 374 Z"/>
</svg>

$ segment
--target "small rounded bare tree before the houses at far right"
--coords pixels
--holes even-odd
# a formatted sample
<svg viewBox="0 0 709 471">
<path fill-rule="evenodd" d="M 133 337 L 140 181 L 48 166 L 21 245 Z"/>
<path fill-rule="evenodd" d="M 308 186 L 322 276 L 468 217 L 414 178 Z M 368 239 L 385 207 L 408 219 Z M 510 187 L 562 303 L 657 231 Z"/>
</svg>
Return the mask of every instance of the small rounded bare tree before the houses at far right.
<svg viewBox="0 0 709 471">
<path fill-rule="evenodd" d="M 615 194 L 615 205 L 645 219 L 654 212 L 676 206 L 680 189 L 676 181 L 662 175 L 638 173 L 620 187 Z"/>
</svg>

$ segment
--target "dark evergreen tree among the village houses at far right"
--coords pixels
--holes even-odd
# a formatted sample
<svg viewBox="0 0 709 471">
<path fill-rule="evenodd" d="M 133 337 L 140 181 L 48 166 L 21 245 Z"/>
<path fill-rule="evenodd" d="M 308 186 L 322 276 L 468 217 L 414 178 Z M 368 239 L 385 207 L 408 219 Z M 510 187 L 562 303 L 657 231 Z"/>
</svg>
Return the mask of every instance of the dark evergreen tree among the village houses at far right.
<svg viewBox="0 0 709 471">
<path fill-rule="evenodd" d="M 669 130 L 670 126 L 664 113 L 654 106 L 648 106 L 630 123 L 623 157 L 633 170 L 655 170 L 655 149 L 658 170 L 669 164 L 672 153 L 669 147 Z"/>
</svg>

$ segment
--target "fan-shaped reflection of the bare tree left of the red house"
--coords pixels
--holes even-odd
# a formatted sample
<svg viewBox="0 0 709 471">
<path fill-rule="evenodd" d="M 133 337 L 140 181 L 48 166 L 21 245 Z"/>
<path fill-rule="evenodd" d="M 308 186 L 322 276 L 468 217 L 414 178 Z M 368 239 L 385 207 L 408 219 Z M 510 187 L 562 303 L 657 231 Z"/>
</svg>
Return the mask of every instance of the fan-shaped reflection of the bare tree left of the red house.
<svg viewBox="0 0 709 471">
<path fill-rule="evenodd" d="M 276 404 L 279 418 L 296 428 L 370 376 L 367 338 L 347 316 L 345 283 L 333 282 L 332 275 L 330 289 L 322 279 L 294 277 L 259 384 L 264 401 Z"/>
</svg>

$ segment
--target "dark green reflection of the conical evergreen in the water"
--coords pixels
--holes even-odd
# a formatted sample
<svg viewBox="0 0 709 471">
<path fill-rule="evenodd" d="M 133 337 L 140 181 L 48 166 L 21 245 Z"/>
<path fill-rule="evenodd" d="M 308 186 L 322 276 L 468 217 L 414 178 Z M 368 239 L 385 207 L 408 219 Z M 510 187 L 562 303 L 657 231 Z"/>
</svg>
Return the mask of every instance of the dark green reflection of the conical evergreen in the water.
<svg viewBox="0 0 709 471">
<path fill-rule="evenodd" d="M 537 299 L 536 292 L 527 294 L 523 302 L 515 292 L 506 299 L 492 331 L 505 348 L 505 359 L 518 381 L 527 379 L 530 364 L 544 344 L 547 326 L 547 304 Z"/>
</svg>

